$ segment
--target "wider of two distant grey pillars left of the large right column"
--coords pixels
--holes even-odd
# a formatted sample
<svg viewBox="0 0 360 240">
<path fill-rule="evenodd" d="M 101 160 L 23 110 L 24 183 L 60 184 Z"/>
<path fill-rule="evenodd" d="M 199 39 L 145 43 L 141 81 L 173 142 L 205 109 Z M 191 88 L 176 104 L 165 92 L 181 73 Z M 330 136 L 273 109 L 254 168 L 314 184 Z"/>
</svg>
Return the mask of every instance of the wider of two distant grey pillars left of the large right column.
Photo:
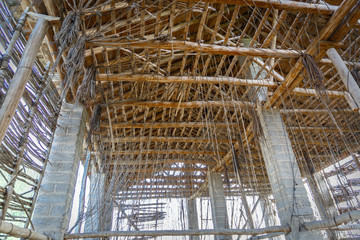
<svg viewBox="0 0 360 240">
<path fill-rule="evenodd" d="M 221 174 L 209 173 L 208 182 L 214 229 L 227 228 L 226 200 Z M 229 238 L 227 236 L 216 236 L 215 239 L 224 240 Z"/>
</svg>

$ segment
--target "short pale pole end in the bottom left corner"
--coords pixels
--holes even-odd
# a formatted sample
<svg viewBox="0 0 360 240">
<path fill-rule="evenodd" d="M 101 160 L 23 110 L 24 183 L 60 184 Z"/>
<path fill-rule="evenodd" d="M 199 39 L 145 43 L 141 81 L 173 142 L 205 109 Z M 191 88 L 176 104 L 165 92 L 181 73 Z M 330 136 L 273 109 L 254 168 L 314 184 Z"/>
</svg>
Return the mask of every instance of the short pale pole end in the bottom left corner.
<svg viewBox="0 0 360 240">
<path fill-rule="evenodd" d="M 21 228 L 0 220 L 0 232 L 12 237 L 25 238 L 30 240 L 51 240 L 50 237 L 34 232 L 27 228 Z"/>
</svg>

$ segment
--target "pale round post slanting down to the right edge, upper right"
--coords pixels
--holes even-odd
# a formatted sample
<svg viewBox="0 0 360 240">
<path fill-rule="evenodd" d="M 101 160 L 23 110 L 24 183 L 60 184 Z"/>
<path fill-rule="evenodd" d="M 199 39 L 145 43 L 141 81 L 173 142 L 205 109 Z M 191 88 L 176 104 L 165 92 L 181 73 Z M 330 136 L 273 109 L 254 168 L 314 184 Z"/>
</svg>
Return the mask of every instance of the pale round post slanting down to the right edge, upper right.
<svg viewBox="0 0 360 240">
<path fill-rule="evenodd" d="M 342 60 L 340 54 L 336 51 L 335 48 L 330 48 L 326 51 L 326 54 L 334 64 L 339 76 L 344 83 L 346 89 L 349 91 L 352 99 L 346 98 L 349 102 L 349 105 L 354 109 L 358 110 L 360 108 L 360 87 L 356 83 L 354 77 L 352 76 L 349 69 L 346 67 L 346 64 Z M 353 106 L 355 103 L 356 106 Z"/>
</svg>

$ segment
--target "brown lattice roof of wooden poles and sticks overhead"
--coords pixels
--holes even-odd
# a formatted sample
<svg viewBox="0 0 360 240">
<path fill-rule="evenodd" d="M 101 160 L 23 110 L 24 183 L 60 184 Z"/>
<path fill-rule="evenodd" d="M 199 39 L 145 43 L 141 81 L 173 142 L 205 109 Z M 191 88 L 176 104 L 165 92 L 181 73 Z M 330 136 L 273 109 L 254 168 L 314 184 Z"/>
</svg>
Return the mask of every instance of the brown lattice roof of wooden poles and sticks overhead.
<svg viewBox="0 0 360 240">
<path fill-rule="evenodd" d="M 85 105 L 90 116 L 102 107 L 93 158 L 109 181 L 121 183 L 114 194 L 137 199 L 205 196 L 209 171 L 224 174 L 229 195 L 239 194 L 239 185 L 249 195 L 271 193 L 256 129 L 260 107 L 282 112 L 304 177 L 360 150 L 359 112 L 326 58 L 335 48 L 350 69 L 359 65 L 360 2 L 316 2 L 21 4 L 61 21 L 76 4 L 85 6 L 76 10 L 86 36 L 84 68 L 96 69 L 96 95 Z M 42 48 L 51 62 L 60 26 L 49 29 Z M 319 66 L 323 92 L 307 77 L 304 54 Z M 57 68 L 61 81 L 67 55 Z M 82 79 L 67 101 L 75 101 Z M 267 99 L 259 102 L 262 87 Z"/>
</svg>

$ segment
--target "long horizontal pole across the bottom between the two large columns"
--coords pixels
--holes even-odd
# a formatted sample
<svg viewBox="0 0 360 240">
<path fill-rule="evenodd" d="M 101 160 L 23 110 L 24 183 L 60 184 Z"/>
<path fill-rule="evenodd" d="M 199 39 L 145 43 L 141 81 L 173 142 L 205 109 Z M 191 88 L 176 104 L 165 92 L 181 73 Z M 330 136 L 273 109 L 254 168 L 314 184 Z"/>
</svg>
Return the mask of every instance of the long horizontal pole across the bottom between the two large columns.
<svg viewBox="0 0 360 240">
<path fill-rule="evenodd" d="M 141 236 L 200 236 L 200 235 L 260 235 L 265 233 L 288 233 L 288 226 L 273 226 L 259 229 L 202 229 L 202 230 L 160 230 L 160 231 L 109 231 L 66 234 L 64 239 L 100 237 L 141 237 Z"/>
</svg>

